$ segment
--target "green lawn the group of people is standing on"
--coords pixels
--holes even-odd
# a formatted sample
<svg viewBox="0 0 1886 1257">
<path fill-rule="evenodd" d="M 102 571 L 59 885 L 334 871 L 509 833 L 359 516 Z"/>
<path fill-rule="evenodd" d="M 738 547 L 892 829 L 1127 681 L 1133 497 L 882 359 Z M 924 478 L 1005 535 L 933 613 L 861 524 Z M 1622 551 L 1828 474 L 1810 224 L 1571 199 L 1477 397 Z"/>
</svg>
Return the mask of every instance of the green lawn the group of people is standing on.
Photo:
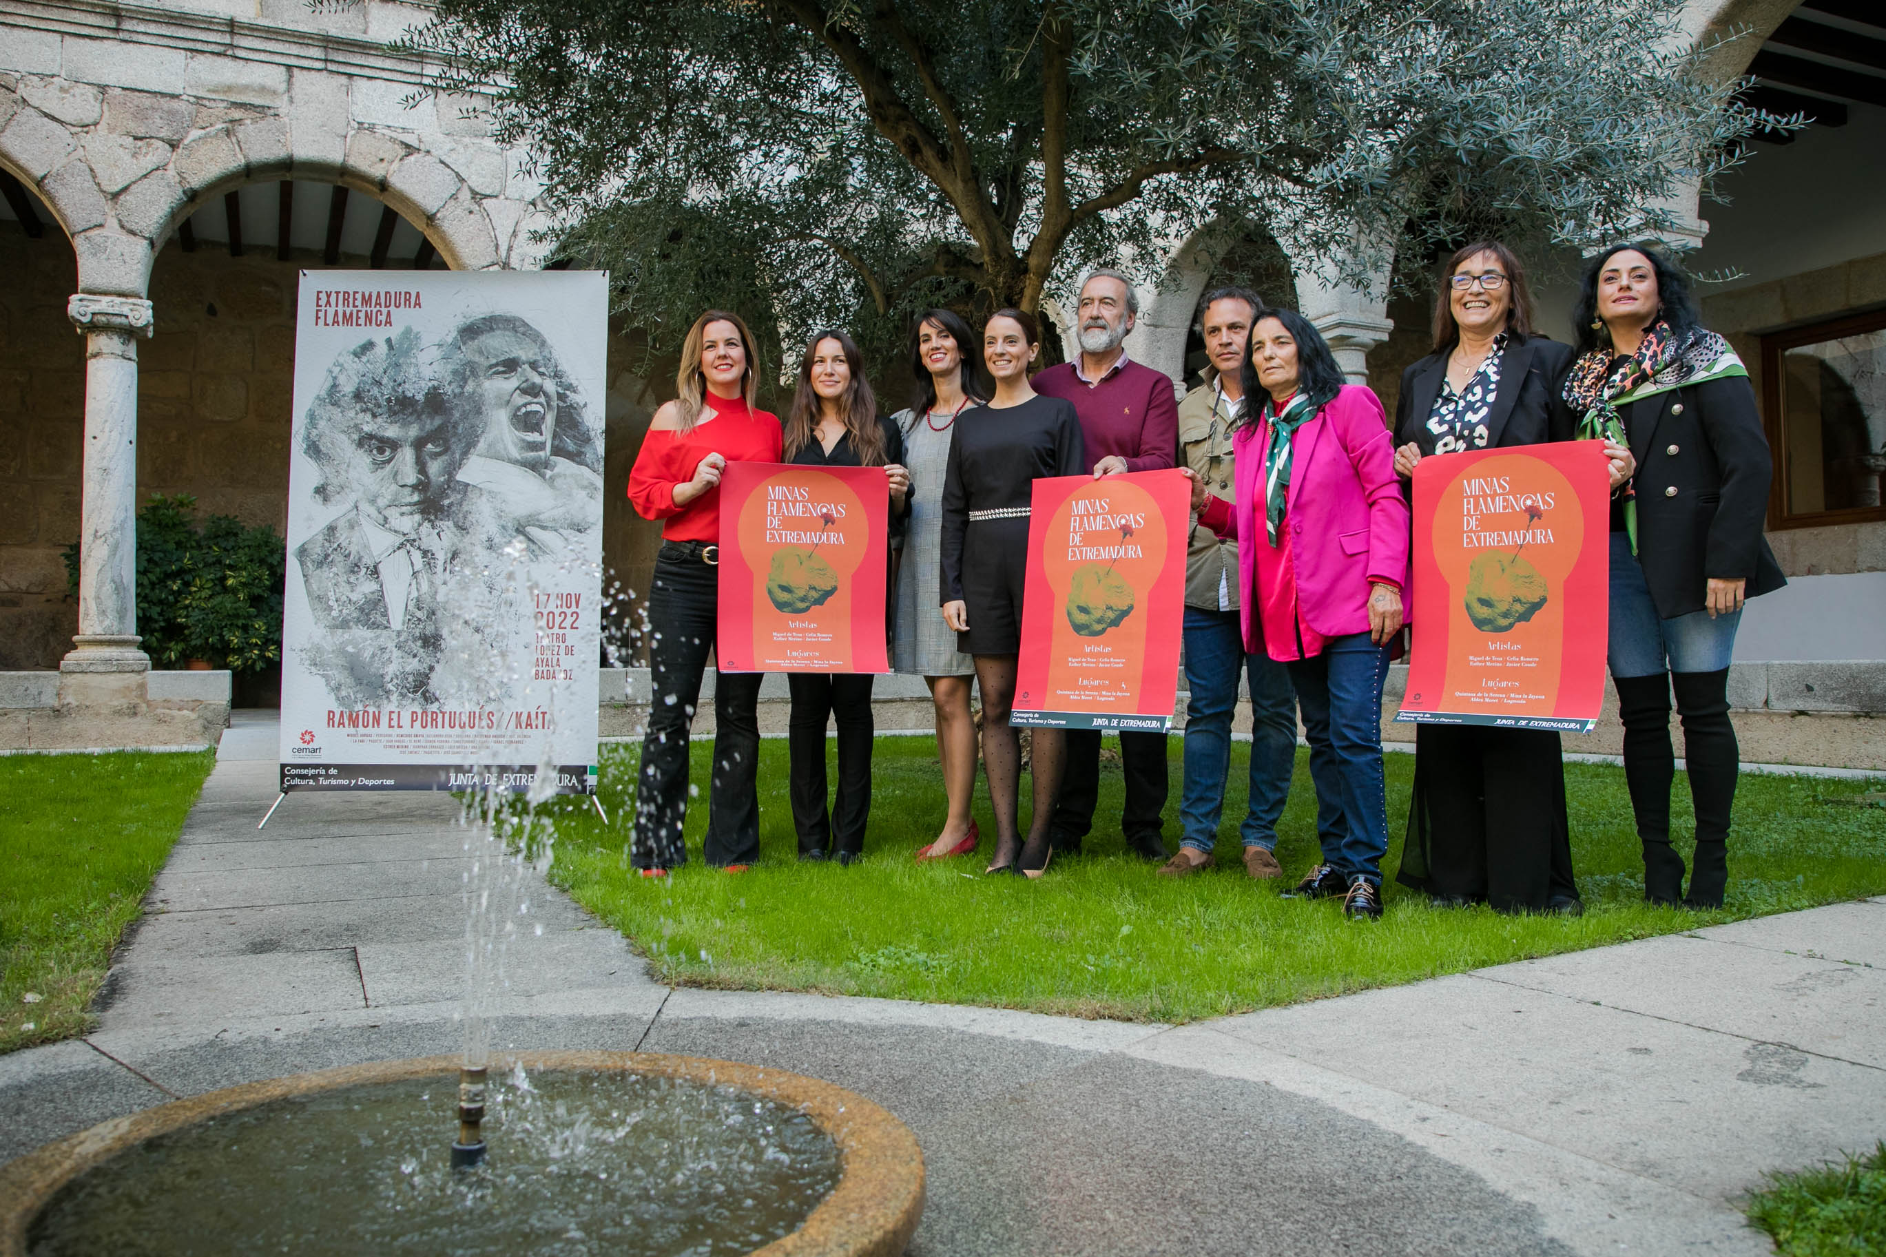
<svg viewBox="0 0 1886 1257">
<path fill-rule="evenodd" d="M 728 876 L 700 863 L 709 750 L 709 743 L 694 744 L 694 780 L 702 784 L 687 825 L 694 863 L 671 880 L 634 878 L 628 869 L 634 748 L 605 754 L 602 801 L 609 825 L 585 810 L 587 803 L 549 805 L 558 818 L 551 876 L 628 935 L 664 982 L 683 986 L 1184 1021 L 1886 893 L 1886 810 L 1861 797 L 1877 784 L 1748 775 L 1735 801 L 1728 906 L 1650 908 L 1643 903 L 1643 863 L 1622 769 L 1571 763 L 1565 776 L 1584 918 L 1430 908 L 1422 895 L 1392 880 L 1414 761 L 1390 754 L 1388 914 L 1379 923 L 1350 923 L 1332 901 L 1282 899 L 1275 884 L 1245 876 L 1235 833 L 1245 744 L 1233 752 L 1232 807 L 1218 846 L 1226 863 L 1216 871 L 1171 880 L 1122 857 L 1120 837 L 1105 822 L 1118 816 L 1122 780 L 1117 765 L 1105 765 L 1103 820 L 1083 859 L 1056 859 L 1041 882 L 983 878 L 994 824 L 981 778 L 979 857 L 924 865 L 911 859 L 920 842 L 935 837 L 943 812 L 928 737 L 879 739 L 868 859 L 851 869 L 794 859 L 786 744 L 766 741 L 764 859 L 743 876 Z M 1177 737 L 1171 763 L 1166 833 L 1177 844 Z M 1686 795 L 1680 775 L 1677 795 Z M 1688 803 L 1677 812 L 1686 814 Z M 1281 833 L 1277 854 L 1294 882 L 1316 859 L 1303 750 Z"/>
</svg>

